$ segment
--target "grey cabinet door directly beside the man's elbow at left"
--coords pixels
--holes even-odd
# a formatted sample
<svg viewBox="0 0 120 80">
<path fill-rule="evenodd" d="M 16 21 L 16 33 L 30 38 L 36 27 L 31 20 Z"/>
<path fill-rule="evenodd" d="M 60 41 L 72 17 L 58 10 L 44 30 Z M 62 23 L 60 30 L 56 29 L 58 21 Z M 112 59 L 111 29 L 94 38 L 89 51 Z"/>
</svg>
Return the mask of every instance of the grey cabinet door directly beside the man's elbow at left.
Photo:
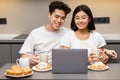
<svg viewBox="0 0 120 80">
<path fill-rule="evenodd" d="M 11 59 L 12 63 L 16 62 L 16 59 L 20 58 L 19 50 L 21 49 L 22 44 L 11 44 Z"/>
</svg>

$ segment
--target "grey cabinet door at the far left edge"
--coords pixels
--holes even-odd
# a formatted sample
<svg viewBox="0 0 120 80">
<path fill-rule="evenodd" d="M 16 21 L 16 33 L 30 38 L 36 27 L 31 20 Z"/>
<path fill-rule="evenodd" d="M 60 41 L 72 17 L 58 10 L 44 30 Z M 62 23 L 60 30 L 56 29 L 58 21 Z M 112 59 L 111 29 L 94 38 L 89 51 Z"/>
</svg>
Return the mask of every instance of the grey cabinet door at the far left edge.
<svg viewBox="0 0 120 80">
<path fill-rule="evenodd" d="M 0 44 L 0 67 L 11 62 L 10 44 Z"/>
</svg>

